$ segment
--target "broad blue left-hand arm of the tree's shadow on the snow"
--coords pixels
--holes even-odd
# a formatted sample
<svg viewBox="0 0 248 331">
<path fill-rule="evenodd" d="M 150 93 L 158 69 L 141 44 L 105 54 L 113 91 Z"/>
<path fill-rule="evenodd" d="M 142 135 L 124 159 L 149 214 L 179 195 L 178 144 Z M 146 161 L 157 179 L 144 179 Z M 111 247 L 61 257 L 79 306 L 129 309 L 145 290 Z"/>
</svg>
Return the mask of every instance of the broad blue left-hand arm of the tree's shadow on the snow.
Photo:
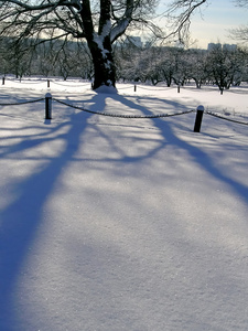
<svg viewBox="0 0 248 331">
<path fill-rule="evenodd" d="M 41 222 L 45 220 L 45 204 L 57 179 L 78 150 L 79 138 L 85 130 L 84 122 L 88 117 L 89 115 L 76 114 L 71 116 L 69 122 L 64 121 L 57 126 L 44 125 L 42 128 L 39 125 L 31 125 L 13 128 L 10 137 L 2 138 L 4 141 L 9 139 L 10 145 L 1 149 L 0 157 L 20 169 L 20 173 L 21 168 L 25 167 L 25 159 L 34 163 L 40 159 L 37 153 L 29 157 L 31 149 L 40 148 L 44 143 L 50 145 L 54 139 L 61 139 L 65 143 L 64 149 L 57 156 L 48 153 L 44 157 L 41 167 L 37 164 L 31 173 L 20 174 L 12 180 L 12 183 L 7 183 L 6 193 L 11 191 L 14 197 L 0 213 L 0 324 L 4 331 L 12 330 L 11 325 L 14 324 L 17 318 L 15 288 L 23 264 L 31 254 L 32 244 L 42 225 Z M 10 129 L 3 127 L 1 130 Z M 11 141 L 14 142 L 11 143 Z M 17 175 L 17 170 L 14 171 Z"/>
</svg>

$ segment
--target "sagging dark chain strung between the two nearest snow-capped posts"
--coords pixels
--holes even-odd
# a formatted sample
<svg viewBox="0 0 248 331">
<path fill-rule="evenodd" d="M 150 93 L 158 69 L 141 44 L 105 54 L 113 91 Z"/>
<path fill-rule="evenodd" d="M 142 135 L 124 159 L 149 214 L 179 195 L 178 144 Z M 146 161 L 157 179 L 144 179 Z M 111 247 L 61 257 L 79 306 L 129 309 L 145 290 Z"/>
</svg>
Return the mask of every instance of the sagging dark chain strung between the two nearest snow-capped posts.
<svg viewBox="0 0 248 331">
<path fill-rule="evenodd" d="M 180 111 L 180 113 L 174 113 L 174 114 L 158 114 L 158 115 L 125 115 L 125 114 L 108 114 L 108 113 L 101 113 L 101 111 L 94 111 L 94 110 L 89 110 L 89 109 L 85 109 L 78 106 L 74 106 L 72 104 L 67 104 L 65 102 L 58 100 L 56 98 L 53 98 L 55 102 L 75 108 L 75 109 L 79 109 L 82 111 L 86 111 L 86 113 L 90 113 L 90 114 L 95 114 L 95 115 L 103 115 L 103 116 L 108 116 L 108 117 L 116 117 L 116 118 L 161 118 L 161 117 L 172 117 L 172 116 L 179 116 L 179 115 L 184 115 L 184 114 L 190 114 L 193 113 L 194 110 L 187 110 L 187 111 Z"/>
</svg>

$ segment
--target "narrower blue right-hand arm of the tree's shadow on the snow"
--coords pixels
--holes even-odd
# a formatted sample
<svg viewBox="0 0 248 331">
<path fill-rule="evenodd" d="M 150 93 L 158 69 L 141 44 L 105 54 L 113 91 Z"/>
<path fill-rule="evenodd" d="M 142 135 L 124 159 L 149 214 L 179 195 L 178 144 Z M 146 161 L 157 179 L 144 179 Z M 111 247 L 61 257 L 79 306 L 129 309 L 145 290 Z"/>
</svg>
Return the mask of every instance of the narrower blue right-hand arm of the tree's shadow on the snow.
<svg viewBox="0 0 248 331">
<path fill-rule="evenodd" d="M 133 110 L 139 110 L 142 115 L 152 115 L 155 113 L 158 109 L 152 109 L 153 111 L 145 107 L 140 105 L 140 100 L 148 100 L 148 104 L 151 103 L 151 100 L 158 100 L 162 104 L 166 105 L 168 109 L 173 109 L 172 113 L 179 113 L 179 111 L 187 111 L 192 110 L 190 106 L 186 106 L 185 104 L 181 104 L 179 102 L 173 102 L 173 100 L 166 100 L 166 99 L 160 99 L 158 97 L 133 97 L 133 96 L 121 96 L 121 95 L 108 95 L 106 97 L 110 97 L 114 100 L 122 104 L 123 106 L 128 107 L 129 109 Z M 101 111 L 105 108 L 106 102 L 101 103 L 103 108 L 99 109 L 99 103 L 98 98 L 103 100 L 103 96 L 96 96 L 93 98 L 93 102 L 95 102 L 95 110 Z M 132 100 L 133 99 L 133 100 Z M 98 108 L 97 108 L 98 107 Z M 169 111 L 170 113 L 170 111 Z M 123 113 L 122 113 L 123 114 Z M 182 115 L 182 116 L 188 116 L 188 115 Z M 179 117 L 179 119 L 181 116 Z M 234 190 L 246 203 L 248 203 L 248 186 L 246 184 L 242 184 L 240 182 L 237 182 L 236 180 L 231 179 L 231 177 L 225 174 L 223 169 L 219 169 L 212 160 L 211 156 L 207 154 L 205 151 L 203 151 L 202 148 L 197 148 L 193 143 L 190 143 L 182 138 L 180 138 L 176 135 L 176 128 L 180 128 L 181 130 L 185 130 L 186 134 L 188 131 L 192 132 L 192 135 L 206 135 L 204 132 L 201 134 L 195 134 L 193 132 L 193 127 L 194 127 L 194 120 L 195 120 L 195 115 L 193 115 L 193 121 L 191 126 L 188 126 L 188 122 L 182 122 L 181 120 L 177 120 L 177 117 L 172 117 L 172 119 L 168 118 L 154 118 L 151 119 L 152 125 L 151 127 L 154 127 L 159 129 L 160 134 L 162 135 L 163 139 L 160 141 L 160 145 L 158 148 L 153 149 L 150 154 L 145 154 L 144 158 L 152 157 L 160 149 L 164 148 L 165 146 L 175 146 L 180 147 L 182 150 L 187 151 L 187 153 L 194 159 L 196 163 L 200 164 L 202 169 L 204 169 L 206 172 L 209 173 L 213 178 L 215 178 L 218 181 L 222 181 L 223 183 L 227 184 L 231 190 Z M 206 120 L 206 118 L 203 119 L 203 122 Z M 218 120 L 218 119 L 217 119 Z M 217 127 L 217 121 L 216 121 L 216 138 L 218 138 L 218 127 Z M 237 126 L 235 124 L 230 124 L 230 126 Z M 142 126 L 140 126 L 142 128 Z M 144 128 L 145 129 L 145 128 Z M 231 141 L 230 141 L 231 145 Z M 134 161 L 134 158 L 131 160 Z M 131 161 L 130 160 L 130 161 Z"/>
</svg>

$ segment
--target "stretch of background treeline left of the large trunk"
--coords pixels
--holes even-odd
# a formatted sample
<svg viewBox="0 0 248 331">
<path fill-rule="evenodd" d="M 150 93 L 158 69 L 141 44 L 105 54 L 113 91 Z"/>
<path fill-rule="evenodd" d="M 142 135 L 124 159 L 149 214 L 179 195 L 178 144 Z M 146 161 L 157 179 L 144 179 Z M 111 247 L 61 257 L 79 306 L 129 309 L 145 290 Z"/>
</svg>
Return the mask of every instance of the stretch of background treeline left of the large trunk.
<svg viewBox="0 0 248 331">
<path fill-rule="evenodd" d="M 93 64 L 85 43 L 72 41 L 17 41 L 0 38 L 0 74 L 15 77 L 42 75 L 93 78 Z"/>
</svg>

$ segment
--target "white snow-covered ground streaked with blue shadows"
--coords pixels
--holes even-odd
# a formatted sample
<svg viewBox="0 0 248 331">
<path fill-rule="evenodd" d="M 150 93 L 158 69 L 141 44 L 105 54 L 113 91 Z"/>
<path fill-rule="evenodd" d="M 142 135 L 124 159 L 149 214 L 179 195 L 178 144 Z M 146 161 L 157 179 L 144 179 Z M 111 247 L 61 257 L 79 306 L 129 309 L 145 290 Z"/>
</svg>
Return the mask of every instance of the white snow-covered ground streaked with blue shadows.
<svg viewBox="0 0 248 331">
<path fill-rule="evenodd" d="M 118 87 L 7 81 L 0 104 L 248 121 L 245 87 Z M 194 120 L 0 106 L 1 331 L 248 330 L 248 126 Z"/>
</svg>

